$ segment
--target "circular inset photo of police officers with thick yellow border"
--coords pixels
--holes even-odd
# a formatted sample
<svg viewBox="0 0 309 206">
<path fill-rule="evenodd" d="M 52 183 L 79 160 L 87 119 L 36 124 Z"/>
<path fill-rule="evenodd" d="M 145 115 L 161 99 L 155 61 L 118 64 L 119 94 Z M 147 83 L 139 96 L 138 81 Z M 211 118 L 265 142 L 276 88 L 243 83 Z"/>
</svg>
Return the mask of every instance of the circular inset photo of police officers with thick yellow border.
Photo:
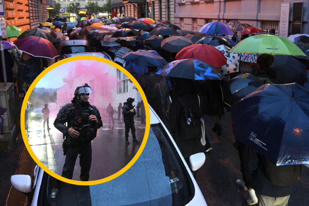
<svg viewBox="0 0 309 206">
<path fill-rule="evenodd" d="M 144 92 L 124 68 L 100 57 L 70 57 L 30 86 L 22 104 L 22 135 L 48 174 L 93 185 L 135 163 L 149 135 L 149 114 Z"/>
</svg>

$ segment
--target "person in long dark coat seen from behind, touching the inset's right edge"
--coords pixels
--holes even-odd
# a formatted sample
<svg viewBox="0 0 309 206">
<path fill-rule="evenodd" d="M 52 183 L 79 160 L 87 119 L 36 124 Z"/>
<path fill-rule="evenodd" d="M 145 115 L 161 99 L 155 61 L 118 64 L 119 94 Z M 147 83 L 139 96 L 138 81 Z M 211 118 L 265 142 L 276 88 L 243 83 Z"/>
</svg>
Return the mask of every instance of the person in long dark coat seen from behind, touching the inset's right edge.
<svg viewBox="0 0 309 206">
<path fill-rule="evenodd" d="M 145 93 L 149 105 L 169 129 L 167 112 L 169 111 L 171 102 L 167 81 L 165 76 L 156 74 L 156 66 L 147 66 L 147 69 L 148 72 L 140 77 L 140 86 Z"/>
</svg>

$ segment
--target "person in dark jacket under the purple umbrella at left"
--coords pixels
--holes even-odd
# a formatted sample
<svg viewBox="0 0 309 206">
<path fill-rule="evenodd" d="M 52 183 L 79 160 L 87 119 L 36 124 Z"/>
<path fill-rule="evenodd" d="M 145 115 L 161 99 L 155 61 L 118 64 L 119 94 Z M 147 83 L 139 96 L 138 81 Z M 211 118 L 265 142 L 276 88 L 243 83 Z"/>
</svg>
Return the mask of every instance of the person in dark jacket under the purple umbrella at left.
<svg viewBox="0 0 309 206">
<path fill-rule="evenodd" d="M 17 87 L 20 97 L 24 97 L 24 91 L 28 91 L 31 83 L 38 76 L 38 67 L 32 61 L 32 56 L 26 52 L 22 52 L 22 59 L 23 61 L 17 69 Z"/>
</svg>

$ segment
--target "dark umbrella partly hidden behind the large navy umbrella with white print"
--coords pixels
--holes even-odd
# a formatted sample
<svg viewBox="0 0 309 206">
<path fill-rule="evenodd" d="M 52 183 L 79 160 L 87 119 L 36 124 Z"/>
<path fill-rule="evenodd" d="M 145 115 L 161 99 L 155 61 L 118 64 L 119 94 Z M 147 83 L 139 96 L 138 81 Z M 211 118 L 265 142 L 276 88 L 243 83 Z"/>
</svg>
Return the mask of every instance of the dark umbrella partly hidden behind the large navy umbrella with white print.
<svg viewBox="0 0 309 206">
<path fill-rule="evenodd" d="M 223 82 L 223 102 L 231 106 L 263 85 L 253 74 L 243 74 Z"/>
</svg>

